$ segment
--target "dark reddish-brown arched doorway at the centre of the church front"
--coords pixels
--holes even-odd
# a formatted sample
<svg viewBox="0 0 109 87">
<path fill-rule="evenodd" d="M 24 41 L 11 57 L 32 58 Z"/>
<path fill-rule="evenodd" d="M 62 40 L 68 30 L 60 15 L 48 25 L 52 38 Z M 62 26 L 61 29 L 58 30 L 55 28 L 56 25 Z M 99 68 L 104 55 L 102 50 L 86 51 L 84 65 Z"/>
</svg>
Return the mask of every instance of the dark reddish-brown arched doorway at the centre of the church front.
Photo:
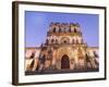
<svg viewBox="0 0 109 87">
<path fill-rule="evenodd" d="M 70 69 L 70 60 L 66 54 L 61 58 L 61 69 Z"/>
</svg>

